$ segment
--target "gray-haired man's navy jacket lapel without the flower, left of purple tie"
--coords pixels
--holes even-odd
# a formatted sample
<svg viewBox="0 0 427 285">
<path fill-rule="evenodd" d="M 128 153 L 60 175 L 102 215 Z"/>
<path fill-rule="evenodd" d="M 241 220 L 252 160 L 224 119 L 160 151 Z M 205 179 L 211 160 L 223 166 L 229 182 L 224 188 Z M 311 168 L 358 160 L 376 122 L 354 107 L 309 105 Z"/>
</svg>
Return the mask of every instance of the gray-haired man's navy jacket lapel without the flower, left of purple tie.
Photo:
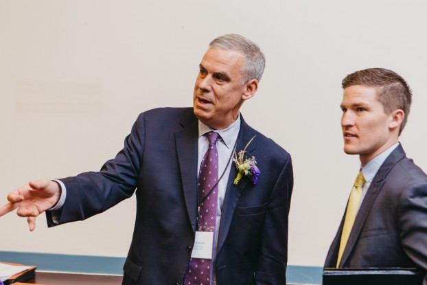
<svg viewBox="0 0 427 285">
<path fill-rule="evenodd" d="M 175 146 L 187 214 L 196 231 L 198 120 L 192 111 L 183 117 L 181 125 L 183 130 L 175 133 Z"/>
</svg>

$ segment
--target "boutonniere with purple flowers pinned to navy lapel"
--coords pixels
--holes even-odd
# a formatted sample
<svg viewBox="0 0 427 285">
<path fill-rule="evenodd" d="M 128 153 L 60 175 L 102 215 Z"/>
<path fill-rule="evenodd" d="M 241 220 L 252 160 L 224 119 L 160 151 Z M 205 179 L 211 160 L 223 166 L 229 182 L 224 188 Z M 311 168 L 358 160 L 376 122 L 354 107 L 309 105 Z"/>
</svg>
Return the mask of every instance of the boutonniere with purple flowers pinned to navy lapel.
<svg viewBox="0 0 427 285">
<path fill-rule="evenodd" d="M 244 147 L 244 150 L 240 150 L 239 155 L 237 155 L 234 151 L 233 161 L 235 163 L 235 168 L 238 170 L 238 175 L 235 176 L 234 185 L 238 185 L 242 176 L 246 176 L 251 179 L 252 183 L 255 185 L 258 181 L 258 176 L 261 173 L 259 168 L 257 168 L 257 161 L 255 157 L 245 157 L 244 152 L 246 152 L 246 148 L 248 148 L 249 144 L 255 139 L 255 135 L 249 141 L 248 144 Z M 243 160 L 244 159 L 244 160 Z"/>
</svg>

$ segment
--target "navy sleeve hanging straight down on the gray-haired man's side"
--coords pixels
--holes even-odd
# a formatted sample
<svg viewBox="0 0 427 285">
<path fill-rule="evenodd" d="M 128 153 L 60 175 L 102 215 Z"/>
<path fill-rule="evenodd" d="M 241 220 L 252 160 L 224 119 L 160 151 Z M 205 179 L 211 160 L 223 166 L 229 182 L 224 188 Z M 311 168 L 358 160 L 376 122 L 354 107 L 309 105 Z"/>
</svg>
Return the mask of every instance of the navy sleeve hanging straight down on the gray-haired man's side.
<svg viewBox="0 0 427 285">
<path fill-rule="evenodd" d="M 255 284 L 286 284 L 288 214 L 292 187 L 292 161 L 288 155 L 279 176 L 277 176 L 268 203 L 261 251 L 255 271 Z"/>
</svg>

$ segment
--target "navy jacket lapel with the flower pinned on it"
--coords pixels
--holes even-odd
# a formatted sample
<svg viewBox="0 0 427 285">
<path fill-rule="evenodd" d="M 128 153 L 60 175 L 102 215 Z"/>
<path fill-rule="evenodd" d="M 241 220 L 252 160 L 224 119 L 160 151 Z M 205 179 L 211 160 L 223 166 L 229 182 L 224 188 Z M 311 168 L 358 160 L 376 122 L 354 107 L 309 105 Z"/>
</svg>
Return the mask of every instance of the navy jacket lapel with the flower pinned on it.
<svg viewBox="0 0 427 285">
<path fill-rule="evenodd" d="M 251 138 L 255 135 L 253 128 L 248 126 L 246 122 L 244 122 L 243 117 L 241 117 L 242 122 L 240 124 L 240 131 L 238 135 L 237 144 L 235 147 L 235 151 L 239 152 L 240 150 L 243 150 L 246 144 L 251 140 Z M 251 152 L 255 150 L 256 148 L 256 138 L 251 142 L 249 147 L 246 149 L 245 155 L 247 157 L 251 157 Z M 220 251 L 222 245 L 224 244 L 225 238 L 227 237 L 227 233 L 229 232 L 229 228 L 231 225 L 231 219 L 233 218 L 235 207 L 239 201 L 240 195 L 242 194 L 242 191 L 244 191 L 244 188 L 246 187 L 247 183 L 249 182 L 248 179 L 242 178 L 238 185 L 233 185 L 233 181 L 235 179 L 235 176 L 238 174 L 237 169 L 235 168 L 235 163 L 231 165 L 231 171 L 229 176 L 229 181 L 227 183 L 227 190 L 225 191 L 224 196 L 224 204 L 222 205 L 222 212 L 221 212 L 221 220 L 220 220 L 220 230 L 218 233 L 218 247 L 217 247 L 217 253 Z"/>
</svg>

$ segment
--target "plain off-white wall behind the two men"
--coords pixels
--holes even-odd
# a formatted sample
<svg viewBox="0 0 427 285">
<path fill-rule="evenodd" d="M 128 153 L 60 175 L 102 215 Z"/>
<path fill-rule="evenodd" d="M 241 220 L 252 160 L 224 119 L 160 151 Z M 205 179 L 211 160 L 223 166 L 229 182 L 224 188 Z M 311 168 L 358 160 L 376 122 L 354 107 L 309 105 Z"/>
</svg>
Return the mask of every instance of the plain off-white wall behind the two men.
<svg viewBox="0 0 427 285">
<path fill-rule="evenodd" d="M 321 266 L 359 165 L 342 150 L 345 75 L 386 67 L 408 81 L 401 141 L 427 170 L 426 12 L 423 0 L 0 0 L 1 203 L 30 179 L 98 170 L 141 111 L 190 106 L 209 41 L 239 33 L 267 58 L 244 118 L 294 162 L 289 263 Z M 9 214 L 0 251 L 123 257 L 134 215 L 130 198 L 30 233 Z"/>
</svg>

